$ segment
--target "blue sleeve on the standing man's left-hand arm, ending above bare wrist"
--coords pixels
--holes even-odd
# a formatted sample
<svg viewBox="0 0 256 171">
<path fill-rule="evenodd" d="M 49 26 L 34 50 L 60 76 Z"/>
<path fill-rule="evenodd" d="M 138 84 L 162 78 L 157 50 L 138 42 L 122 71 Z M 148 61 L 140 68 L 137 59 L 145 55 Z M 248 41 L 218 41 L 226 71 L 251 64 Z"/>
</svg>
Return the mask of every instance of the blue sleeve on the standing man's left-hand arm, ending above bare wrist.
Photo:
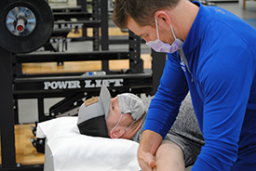
<svg viewBox="0 0 256 171">
<path fill-rule="evenodd" d="M 149 107 L 144 130 L 157 132 L 165 138 L 169 128 L 174 123 L 182 99 L 185 98 L 188 87 L 177 56 L 168 54 L 166 66 L 160 85 Z"/>
</svg>

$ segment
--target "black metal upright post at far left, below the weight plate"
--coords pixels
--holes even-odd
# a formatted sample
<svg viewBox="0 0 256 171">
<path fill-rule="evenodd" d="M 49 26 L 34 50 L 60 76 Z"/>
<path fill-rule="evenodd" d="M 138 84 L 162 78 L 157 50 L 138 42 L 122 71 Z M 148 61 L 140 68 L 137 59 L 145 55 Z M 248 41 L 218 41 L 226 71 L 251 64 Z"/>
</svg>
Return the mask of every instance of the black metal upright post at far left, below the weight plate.
<svg viewBox="0 0 256 171">
<path fill-rule="evenodd" d="M 0 47 L 0 127 L 2 167 L 16 166 L 12 92 L 12 54 Z"/>
</svg>

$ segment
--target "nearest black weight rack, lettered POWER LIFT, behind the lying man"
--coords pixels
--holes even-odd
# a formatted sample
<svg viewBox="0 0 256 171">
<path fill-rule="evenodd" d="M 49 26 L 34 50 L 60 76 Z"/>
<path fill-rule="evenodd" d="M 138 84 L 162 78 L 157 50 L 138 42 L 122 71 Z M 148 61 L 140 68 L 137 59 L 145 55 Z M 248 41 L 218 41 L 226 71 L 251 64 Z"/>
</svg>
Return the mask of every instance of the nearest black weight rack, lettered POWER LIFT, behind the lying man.
<svg viewBox="0 0 256 171">
<path fill-rule="evenodd" d="M 101 14 L 107 14 L 107 1 L 101 1 Z M 23 165 L 16 163 L 14 125 L 18 121 L 17 99 L 37 99 L 39 117 L 45 115 L 44 99 L 65 97 L 98 96 L 102 80 L 109 83 L 112 93 L 132 92 L 135 94 L 155 94 L 162 74 L 166 55 L 152 52 L 152 73 L 143 72 L 141 60 L 141 39 L 129 33 L 129 49 L 127 52 L 109 51 L 108 45 L 108 15 L 101 15 L 101 51 L 88 53 L 51 53 L 51 54 L 14 54 L 0 47 L 0 127 L 1 127 L 1 155 L 0 170 L 42 171 L 43 164 Z M 25 75 L 21 72 L 21 63 L 49 62 L 49 61 L 79 61 L 102 60 L 102 70 L 107 72 L 103 76 L 80 76 L 80 73 L 61 74 L 33 74 Z M 109 70 L 109 59 L 129 59 L 131 73 L 117 73 Z M 47 83 L 53 84 L 48 86 Z M 55 88 L 54 83 L 67 83 L 75 88 Z M 88 86 L 91 87 L 88 87 Z M 93 85 L 93 86 L 92 86 Z M 47 87 L 47 88 L 46 88 Z M 85 95 L 85 92 L 87 95 Z M 56 108 L 56 112 L 60 108 Z"/>
</svg>

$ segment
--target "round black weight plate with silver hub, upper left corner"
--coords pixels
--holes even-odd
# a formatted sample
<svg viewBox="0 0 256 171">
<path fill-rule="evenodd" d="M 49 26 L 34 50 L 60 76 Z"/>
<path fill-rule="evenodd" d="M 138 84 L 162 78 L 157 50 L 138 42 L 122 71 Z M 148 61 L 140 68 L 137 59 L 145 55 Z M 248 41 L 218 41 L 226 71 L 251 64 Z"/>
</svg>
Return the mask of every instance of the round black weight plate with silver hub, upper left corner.
<svg viewBox="0 0 256 171">
<path fill-rule="evenodd" d="M 29 53 L 50 38 L 54 18 L 46 0 L 4 0 L 0 6 L 0 46 Z"/>
</svg>

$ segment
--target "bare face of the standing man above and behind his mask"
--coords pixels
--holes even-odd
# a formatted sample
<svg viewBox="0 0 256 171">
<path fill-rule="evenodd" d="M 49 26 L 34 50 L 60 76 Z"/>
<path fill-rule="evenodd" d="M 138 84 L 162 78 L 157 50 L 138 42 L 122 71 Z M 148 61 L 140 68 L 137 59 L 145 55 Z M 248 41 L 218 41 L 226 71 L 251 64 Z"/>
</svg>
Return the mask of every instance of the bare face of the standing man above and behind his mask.
<svg viewBox="0 0 256 171">
<path fill-rule="evenodd" d="M 170 34 L 170 28 L 166 25 L 163 20 L 157 20 L 159 39 L 168 44 L 172 44 L 174 37 Z M 156 28 L 151 25 L 140 26 L 135 20 L 131 17 L 128 17 L 128 29 L 142 37 L 146 42 L 155 41 L 157 39 Z"/>
</svg>

